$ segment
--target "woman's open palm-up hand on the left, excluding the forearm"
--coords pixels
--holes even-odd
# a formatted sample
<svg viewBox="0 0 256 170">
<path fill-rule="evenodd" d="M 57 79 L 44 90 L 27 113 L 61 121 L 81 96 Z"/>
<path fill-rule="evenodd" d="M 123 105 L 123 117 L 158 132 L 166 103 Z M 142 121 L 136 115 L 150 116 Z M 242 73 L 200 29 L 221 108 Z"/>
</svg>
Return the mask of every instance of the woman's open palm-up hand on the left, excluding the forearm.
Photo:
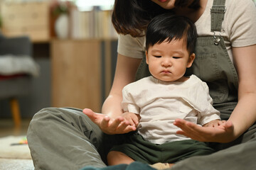
<svg viewBox="0 0 256 170">
<path fill-rule="evenodd" d="M 129 121 L 124 120 L 121 116 L 113 119 L 102 113 L 94 113 L 89 108 L 85 108 L 82 112 L 106 134 L 123 134 L 136 130 L 134 125 L 129 125 Z"/>
</svg>

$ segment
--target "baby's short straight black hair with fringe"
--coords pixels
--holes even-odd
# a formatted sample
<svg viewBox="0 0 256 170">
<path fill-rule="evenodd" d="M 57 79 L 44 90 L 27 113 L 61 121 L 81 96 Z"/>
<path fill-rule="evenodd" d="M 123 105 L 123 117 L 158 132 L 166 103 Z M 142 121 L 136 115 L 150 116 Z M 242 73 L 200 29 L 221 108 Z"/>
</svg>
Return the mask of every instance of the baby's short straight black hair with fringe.
<svg viewBox="0 0 256 170">
<path fill-rule="evenodd" d="M 164 13 L 153 18 L 146 29 L 146 50 L 149 46 L 160 44 L 167 40 L 181 40 L 187 42 L 187 49 L 190 54 L 196 47 L 196 26 L 184 16 L 175 16 L 171 13 Z"/>
</svg>

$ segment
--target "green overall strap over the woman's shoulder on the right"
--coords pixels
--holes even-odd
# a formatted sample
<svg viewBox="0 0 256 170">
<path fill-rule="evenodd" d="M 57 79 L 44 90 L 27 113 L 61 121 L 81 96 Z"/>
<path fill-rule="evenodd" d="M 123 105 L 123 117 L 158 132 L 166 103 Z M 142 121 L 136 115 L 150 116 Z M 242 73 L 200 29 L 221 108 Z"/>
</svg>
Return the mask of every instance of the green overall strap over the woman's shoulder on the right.
<svg viewBox="0 0 256 170">
<path fill-rule="evenodd" d="M 214 0 L 213 6 L 210 9 L 210 22 L 211 22 L 211 32 L 221 32 L 221 25 L 223 23 L 224 14 L 226 11 L 225 0 Z"/>
</svg>

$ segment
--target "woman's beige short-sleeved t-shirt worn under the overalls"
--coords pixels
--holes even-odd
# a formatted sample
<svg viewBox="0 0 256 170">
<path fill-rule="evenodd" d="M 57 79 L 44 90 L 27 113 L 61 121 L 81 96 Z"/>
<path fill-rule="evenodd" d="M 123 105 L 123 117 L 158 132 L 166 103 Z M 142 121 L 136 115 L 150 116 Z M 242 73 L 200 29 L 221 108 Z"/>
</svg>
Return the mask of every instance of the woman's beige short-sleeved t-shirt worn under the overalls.
<svg viewBox="0 0 256 170">
<path fill-rule="evenodd" d="M 208 0 L 206 10 L 196 21 L 198 36 L 213 36 L 210 32 L 210 8 L 213 0 Z M 226 0 L 227 11 L 220 33 L 224 37 L 228 55 L 233 61 L 232 47 L 245 47 L 256 44 L 256 8 L 252 0 Z M 219 33 L 217 33 L 219 35 Z M 132 38 L 131 35 L 119 35 L 117 52 L 133 58 L 142 58 L 145 52 L 145 37 Z"/>
</svg>

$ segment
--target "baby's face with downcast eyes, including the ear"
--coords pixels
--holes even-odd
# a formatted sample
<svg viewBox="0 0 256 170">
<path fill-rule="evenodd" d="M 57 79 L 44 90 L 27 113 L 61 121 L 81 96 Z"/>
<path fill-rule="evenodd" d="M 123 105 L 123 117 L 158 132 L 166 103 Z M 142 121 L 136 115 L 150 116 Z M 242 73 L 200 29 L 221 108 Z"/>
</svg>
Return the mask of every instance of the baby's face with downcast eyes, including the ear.
<svg viewBox="0 0 256 170">
<path fill-rule="evenodd" d="M 183 38 L 155 44 L 146 52 L 149 72 L 161 81 L 183 81 L 186 68 L 191 67 L 193 59 L 194 54 L 189 55 Z"/>
</svg>

